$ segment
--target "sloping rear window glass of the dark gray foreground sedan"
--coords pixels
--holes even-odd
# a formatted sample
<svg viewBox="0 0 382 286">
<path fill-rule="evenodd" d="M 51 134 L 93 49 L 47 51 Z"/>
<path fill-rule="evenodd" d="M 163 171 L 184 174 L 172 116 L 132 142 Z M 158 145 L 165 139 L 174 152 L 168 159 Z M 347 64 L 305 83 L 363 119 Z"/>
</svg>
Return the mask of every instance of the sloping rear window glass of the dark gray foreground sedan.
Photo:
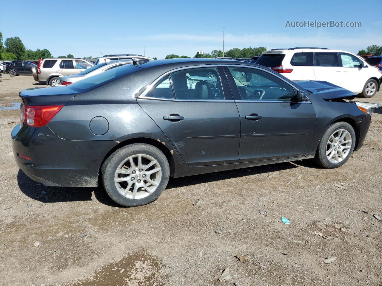
<svg viewBox="0 0 382 286">
<path fill-rule="evenodd" d="M 108 82 L 119 79 L 120 77 L 131 74 L 139 69 L 141 68 L 125 64 L 123 66 L 116 67 L 115 69 L 110 69 L 108 71 L 101 72 L 100 74 L 96 74 L 95 76 L 87 77 L 83 80 L 79 80 L 78 82 L 74 82 L 73 84 L 67 85 L 67 88 L 70 88 L 76 92 L 87 92 L 94 88 L 100 87 L 101 85 L 107 84 Z"/>
</svg>

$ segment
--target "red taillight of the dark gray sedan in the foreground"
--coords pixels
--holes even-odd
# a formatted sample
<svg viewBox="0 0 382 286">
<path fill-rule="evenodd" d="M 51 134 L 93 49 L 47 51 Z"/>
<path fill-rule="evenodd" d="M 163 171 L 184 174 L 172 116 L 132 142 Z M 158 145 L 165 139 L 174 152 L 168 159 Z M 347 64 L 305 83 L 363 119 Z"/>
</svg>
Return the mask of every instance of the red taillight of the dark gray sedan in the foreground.
<svg viewBox="0 0 382 286">
<path fill-rule="evenodd" d="M 63 105 L 39 105 L 29 106 L 21 104 L 21 122 L 31 127 L 42 127 L 57 114 Z"/>
</svg>

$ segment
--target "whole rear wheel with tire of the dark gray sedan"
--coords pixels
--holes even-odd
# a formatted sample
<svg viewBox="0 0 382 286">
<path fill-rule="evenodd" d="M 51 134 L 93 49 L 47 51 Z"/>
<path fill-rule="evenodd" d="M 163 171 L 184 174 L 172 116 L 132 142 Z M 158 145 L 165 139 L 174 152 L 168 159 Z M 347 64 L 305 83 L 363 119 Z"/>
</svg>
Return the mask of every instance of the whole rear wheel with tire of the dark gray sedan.
<svg viewBox="0 0 382 286">
<path fill-rule="evenodd" d="M 167 186 L 170 167 L 158 148 L 136 143 L 110 155 L 102 165 L 101 176 L 105 191 L 113 201 L 136 207 L 159 197 Z"/>
</svg>

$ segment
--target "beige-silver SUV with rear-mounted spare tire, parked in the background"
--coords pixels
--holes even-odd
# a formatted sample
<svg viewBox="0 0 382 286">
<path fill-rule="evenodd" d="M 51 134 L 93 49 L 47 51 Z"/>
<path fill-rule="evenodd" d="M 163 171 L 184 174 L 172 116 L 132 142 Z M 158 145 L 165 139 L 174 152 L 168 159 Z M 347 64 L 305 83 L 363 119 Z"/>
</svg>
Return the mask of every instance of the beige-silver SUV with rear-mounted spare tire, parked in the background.
<svg viewBox="0 0 382 286">
<path fill-rule="evenodd" d="M 39 65 L 32 69 L 32 74 L 34 80 L 40 84 L 61 85 L 59 76 L 78 74 L 92 66 L 85 59 L 47 58 L 39 60 Z"/>
</svg>

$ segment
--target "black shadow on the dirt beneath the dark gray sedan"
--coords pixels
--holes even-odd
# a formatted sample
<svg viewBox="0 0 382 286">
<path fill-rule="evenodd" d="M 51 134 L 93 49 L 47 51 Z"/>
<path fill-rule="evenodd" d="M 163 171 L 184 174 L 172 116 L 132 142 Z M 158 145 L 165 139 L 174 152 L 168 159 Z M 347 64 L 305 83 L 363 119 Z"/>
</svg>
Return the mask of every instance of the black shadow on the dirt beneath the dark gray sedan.
<svg viewBox="0 0 382 286">
<path fill-rule="evenodd" d="M 270 173 L 293 168 L 298 168 L 298 166 L 296 166 L 295 164 L 291 164 L 290 162 L 285 162 L 181 178 L 170 178 L 166 189 L 170 190 L 173 188 L 180 188 L 183 186 L 198 185 L 201 183 L 240 178 L 248 175 L 259 175 L 263 173 Z M 315 168 L 317 168 L 317 165 L 315 165 Z M 97 199 L 97 201 L 99 201 L 100 203 L 111 207 L 121 207 L 119 204 L 117 204 L 109 198 L 109 196 L 106 194 L 105 190 L 102 187 L 74 188 L 44 186 L 41 183 L 35 182 L 31 178 L 29 178 L 20 169 L 17 174 L 17 182 L 20 190 L 26 196 L 42 203 L 91 201 L 92 193 L 94 193 L 95 199 Z"/>
</svg>

